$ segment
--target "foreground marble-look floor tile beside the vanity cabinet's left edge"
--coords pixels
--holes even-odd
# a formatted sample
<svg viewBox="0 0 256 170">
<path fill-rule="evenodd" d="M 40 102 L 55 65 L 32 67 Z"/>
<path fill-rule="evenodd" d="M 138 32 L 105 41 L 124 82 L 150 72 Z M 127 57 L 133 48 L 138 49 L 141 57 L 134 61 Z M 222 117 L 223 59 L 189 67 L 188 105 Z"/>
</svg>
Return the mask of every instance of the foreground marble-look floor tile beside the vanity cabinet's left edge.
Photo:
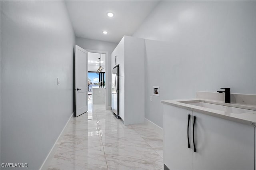
<svg viewBox="0 0 256 170">
<path fill-rule="evenodd" d="M 104 145 L 110 170 L 158 170 L 163 159 L 143 138 Z"/>
</svg>

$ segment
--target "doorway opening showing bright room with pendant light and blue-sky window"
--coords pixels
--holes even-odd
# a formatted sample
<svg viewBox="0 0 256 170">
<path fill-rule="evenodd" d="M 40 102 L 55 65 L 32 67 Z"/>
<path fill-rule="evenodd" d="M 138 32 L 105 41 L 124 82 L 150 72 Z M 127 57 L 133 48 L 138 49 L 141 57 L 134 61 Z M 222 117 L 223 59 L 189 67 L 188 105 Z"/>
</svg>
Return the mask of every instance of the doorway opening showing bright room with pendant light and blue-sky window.
<svg viewBox="0 0 256 170">
<path fill-rule="evenodd" d="M 106 93 L 106 54 L 88 52 L 88 110 L 93 105 L 105 106 Z"/>
</svg>

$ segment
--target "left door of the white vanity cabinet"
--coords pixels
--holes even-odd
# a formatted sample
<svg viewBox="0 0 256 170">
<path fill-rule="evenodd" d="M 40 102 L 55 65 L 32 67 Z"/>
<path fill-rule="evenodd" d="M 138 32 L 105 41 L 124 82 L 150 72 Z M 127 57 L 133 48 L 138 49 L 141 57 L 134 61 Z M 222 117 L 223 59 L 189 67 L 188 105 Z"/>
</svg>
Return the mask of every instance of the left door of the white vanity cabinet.
<svg viewBox="0 0 256 170">
<path fill-rule="evenodd" d="M 192 168 L 192 143 L 188 148 L 187 127 L 192 126 L 192 111 L 164 105 L 164 164 L 170 170 L 190 170 Z M 189 138 L 191 139 L 189 128 Z"/>
</svg>

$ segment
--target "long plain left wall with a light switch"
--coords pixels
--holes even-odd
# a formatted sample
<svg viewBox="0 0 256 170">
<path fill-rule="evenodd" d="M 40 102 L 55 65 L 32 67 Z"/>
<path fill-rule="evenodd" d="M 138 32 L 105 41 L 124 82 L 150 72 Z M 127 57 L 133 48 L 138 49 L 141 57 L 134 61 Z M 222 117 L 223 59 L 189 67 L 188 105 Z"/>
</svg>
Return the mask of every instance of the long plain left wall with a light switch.
<svg viewBox="0 0 256 170">
<path fill-rule="evenodd" d="M 42 165 L 74 111 L 74 43 L 64 2 L 1 1 L 1 163 Z"/>
</svg>

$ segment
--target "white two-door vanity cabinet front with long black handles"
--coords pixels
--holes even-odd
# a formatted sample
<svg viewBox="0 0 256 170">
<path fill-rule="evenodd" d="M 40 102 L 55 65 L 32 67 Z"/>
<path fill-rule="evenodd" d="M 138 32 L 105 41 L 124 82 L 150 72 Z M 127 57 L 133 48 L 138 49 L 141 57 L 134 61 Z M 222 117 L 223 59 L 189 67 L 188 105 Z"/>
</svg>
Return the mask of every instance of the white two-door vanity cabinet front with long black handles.
<svg viewBox="0 0 256 170">
<path fill-rule="evenodd" d="M 170 170 L 254 170 L 254 130 L 250 125 L 165 104 L 164 164 Z"/>
</svg>

